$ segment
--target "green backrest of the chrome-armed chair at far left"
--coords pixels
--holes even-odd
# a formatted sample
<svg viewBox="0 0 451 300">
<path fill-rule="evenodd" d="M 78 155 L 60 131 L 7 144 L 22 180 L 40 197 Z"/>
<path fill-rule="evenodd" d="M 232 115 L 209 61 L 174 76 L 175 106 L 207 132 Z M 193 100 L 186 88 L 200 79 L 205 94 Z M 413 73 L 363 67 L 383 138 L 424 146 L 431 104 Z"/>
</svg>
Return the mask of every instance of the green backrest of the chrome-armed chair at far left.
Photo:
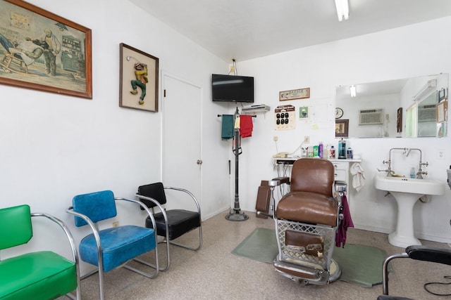
<svg viewBox="0 0 451 300">
<path fill-rule="evenodd" d="M 0 209 L 0 249 L 25 244 L 33 236 L 30 207 L 26 204 Z"/>
</svg>

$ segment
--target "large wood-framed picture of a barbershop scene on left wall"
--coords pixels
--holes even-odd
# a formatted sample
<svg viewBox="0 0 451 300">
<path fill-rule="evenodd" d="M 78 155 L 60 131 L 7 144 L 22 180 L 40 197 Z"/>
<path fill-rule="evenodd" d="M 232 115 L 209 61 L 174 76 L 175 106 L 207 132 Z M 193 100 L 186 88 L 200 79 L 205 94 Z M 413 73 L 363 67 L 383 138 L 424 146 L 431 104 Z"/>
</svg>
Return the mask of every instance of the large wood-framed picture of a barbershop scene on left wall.
<svg viewBox="0 0 451 300">
<path fill-rule="evenodd" d="M 27 2 L 0 1 L 0 84 L 92 99 L 91 36 Z"/>
</svg>

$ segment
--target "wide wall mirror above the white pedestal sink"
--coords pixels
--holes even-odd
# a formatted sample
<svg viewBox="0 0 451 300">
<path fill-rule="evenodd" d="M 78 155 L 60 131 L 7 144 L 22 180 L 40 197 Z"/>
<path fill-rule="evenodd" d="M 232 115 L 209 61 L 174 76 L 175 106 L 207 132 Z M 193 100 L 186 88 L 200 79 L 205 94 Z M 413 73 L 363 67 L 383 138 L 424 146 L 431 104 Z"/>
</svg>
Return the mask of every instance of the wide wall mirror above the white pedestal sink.
<svg viewBox="0 0 451 300">
<path fill-rule="evenodd" d="M 350 138 L 444 137 L 447 98 L 448 74 L 338 86 L 335 120 Z"/>
</svg>

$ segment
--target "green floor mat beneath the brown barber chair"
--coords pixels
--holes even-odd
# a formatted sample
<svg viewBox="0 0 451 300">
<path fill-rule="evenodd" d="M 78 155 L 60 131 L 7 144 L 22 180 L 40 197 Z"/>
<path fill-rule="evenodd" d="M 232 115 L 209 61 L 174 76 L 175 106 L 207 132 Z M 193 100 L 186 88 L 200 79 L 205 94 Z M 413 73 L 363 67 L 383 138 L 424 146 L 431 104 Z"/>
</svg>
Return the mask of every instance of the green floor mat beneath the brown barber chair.
<svg viewBox="0 0 451 300">
<path fill-rule="evenodd" d="M 278 254 L 276 232 L 256 228 L 232 252 L 248 259 L 273 263 Z M 382 263 L 387 256 L 384 250 L 361 244 L 345 244 L 345 248 L 335 247 L 332 256 L 342 270 L 339 280 L 362 287 L 381 284 Z"/>
</svg>

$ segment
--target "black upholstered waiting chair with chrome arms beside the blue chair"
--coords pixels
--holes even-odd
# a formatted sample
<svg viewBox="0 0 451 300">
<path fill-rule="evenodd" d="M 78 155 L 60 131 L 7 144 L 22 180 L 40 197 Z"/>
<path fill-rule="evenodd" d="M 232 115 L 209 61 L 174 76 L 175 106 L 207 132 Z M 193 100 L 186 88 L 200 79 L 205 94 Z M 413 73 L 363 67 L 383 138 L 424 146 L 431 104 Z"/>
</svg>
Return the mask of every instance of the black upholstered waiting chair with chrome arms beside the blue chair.
<svg viewBox="0 0 451 300">
<path fill-rule="evenodd" d="M 167 203 L 165 190 L 174 190 L 182 192 L 185 198 L 192 200 L 193 210 L 186 209 L 168 209 L 163 208 L 163 205 Z M 180 194 L 182 195 L 182 194 Z M 152 208 L 154 212 L 154 218 L 156 222 L 157 235 L 164 237 L 163 242 L 166 242 L 167 261 L 166 266 L 160 270 L 166 270 L 170 263 L 169 244 L 175 244 L 179 247 L 184 247 L 193 251 L 197 251 L 202 247 L 202 226 L 201 226 L 201 214 L 199 202 L 196 197 L 190 193 L 190 191 L 183 188 L 173 188 L 164 186 L 163 183 L 151 183 L 147 185 L 141 185 L 138 188 L 137 197 L 141 202 L 146 204 L 147 207 Z M 157 211 L 155 211 L 157 209 Z M 146 219 L 146 227 L 152 228 L 152 222 L 150 218 Z M 173 240 L 185 235 L 194 229 L 199 230 L 199 241 L 196 242 L 194 247 L 187 244 L 181 244 L 174 242 Z"/>
</svg>

